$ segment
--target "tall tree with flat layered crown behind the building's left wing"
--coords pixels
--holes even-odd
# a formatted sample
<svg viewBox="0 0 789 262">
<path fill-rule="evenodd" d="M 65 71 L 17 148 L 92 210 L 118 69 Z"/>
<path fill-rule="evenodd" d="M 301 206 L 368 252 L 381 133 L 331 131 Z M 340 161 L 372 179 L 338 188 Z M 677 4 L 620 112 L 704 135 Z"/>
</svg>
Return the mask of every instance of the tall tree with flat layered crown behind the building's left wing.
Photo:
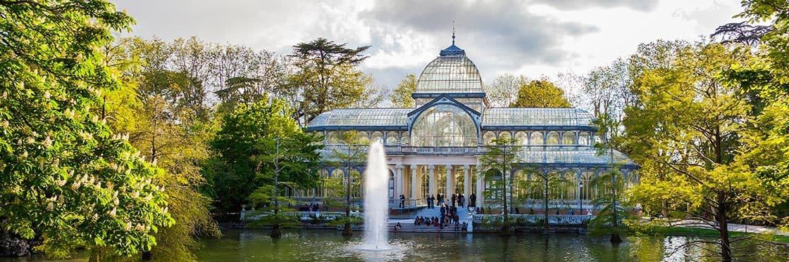
<svg viewBox="0 0 789 262">
<path fill-rule="evenodd" d="M 346 48 L 346 43 L 318 38 L 294 46 L 294 65 L 297 72 L 290 85 L 297 89 L 298 105 L 294 118 L 303 126 L 312 118 L 331 109 L 345 107 L 359 101 L 365 86 L 354 68 L 368 56 L 363 53 L 370 46 Z"/>
</svg>

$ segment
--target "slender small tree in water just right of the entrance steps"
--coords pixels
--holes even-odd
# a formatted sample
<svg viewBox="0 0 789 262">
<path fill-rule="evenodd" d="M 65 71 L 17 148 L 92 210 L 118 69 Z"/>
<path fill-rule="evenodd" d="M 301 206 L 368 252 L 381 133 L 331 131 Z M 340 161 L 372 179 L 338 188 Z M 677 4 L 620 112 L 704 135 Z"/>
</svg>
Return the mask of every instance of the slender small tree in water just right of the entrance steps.
<svg viewBox="0 0 789 262">
<path fill-rule="evenodd" d="M 513 164 L 518 163 L 518 151 L 520 146 L 518 140 L 515 138 L 496 138 L 493 139 L 492 145 L 485 146 L 486 152 L 480 157 L 481 170 L 479 175 L 489 175 L 488 171 L 495 170 L 501 174 L 501 201 L 502 201 L 502 217 L 503 223 L 501 227 L 501 234 L 510 234 L 510 223 L 507 223 L 509 217 L 507 216 L 507 189 L 512 183 L 513 177 Z"/>
</svg>

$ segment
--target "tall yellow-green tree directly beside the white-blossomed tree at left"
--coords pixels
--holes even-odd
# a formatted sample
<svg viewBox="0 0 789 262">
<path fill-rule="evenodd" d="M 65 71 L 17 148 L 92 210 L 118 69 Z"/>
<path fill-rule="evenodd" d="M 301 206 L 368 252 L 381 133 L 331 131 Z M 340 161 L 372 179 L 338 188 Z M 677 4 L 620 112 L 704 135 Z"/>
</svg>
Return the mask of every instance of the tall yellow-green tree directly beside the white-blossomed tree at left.
<svg viewBox="0 0 789 262">
<path fill-rule="evenodd" d="M 121 39 L 115 45 L 105 46 L 105 53 L 110 54 L 107 64 L 123 77 L 124 86 L 105 92 L 99 113 L 115 131 L 129 134 L 129 142 L 165 170 L 155 184 L 170 189 L 170 214 L 176 223 L 155 235 L 159 241 L 151 250 L 152 257 L 195 260 L 192 251 L 200 248 L 197 238 L 220 235 L 209 212 L 211 199 L 197 190 L 205 183 L 200 161 L 208 158 L 206 143 L 212 134 L 211 126 L 193 116 L 167 110 L 173 106 L 161 97 L 148 98 L 145 93 L 136 92 L 144 79 L 140 74 L 144 62 L 135 56 L 133 41 Z"/>
</svg>

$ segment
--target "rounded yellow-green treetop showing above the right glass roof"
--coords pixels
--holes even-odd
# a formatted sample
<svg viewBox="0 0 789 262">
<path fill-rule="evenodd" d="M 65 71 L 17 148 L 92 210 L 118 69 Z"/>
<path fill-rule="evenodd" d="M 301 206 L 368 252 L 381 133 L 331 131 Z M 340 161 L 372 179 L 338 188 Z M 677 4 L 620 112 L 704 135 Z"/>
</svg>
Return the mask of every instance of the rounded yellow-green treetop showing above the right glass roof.
<svg viewBox="0 0 789 262">
<path fill-rule="evenodd" d="M 522 82 L 518 87 L 518 98 L 510 104 L 510 107 L 521 108 L 569 108 L 570 106 L 570 101 L 564 96 L 564 90 L 544 79 Z"/>
</svg>

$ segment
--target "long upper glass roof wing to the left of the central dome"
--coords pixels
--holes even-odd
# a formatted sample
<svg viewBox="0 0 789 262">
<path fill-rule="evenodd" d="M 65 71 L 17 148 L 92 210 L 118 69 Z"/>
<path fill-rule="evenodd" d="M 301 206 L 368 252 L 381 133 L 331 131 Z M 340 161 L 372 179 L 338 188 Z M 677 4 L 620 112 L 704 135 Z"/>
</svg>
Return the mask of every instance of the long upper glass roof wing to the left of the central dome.
<svg viewBox="0 0 789 262">
<path fill-rule="evenodd" d="M 413 109 L 335 109 L 309 122 L 309 127 L 406 126 Z"/>
</svg>

